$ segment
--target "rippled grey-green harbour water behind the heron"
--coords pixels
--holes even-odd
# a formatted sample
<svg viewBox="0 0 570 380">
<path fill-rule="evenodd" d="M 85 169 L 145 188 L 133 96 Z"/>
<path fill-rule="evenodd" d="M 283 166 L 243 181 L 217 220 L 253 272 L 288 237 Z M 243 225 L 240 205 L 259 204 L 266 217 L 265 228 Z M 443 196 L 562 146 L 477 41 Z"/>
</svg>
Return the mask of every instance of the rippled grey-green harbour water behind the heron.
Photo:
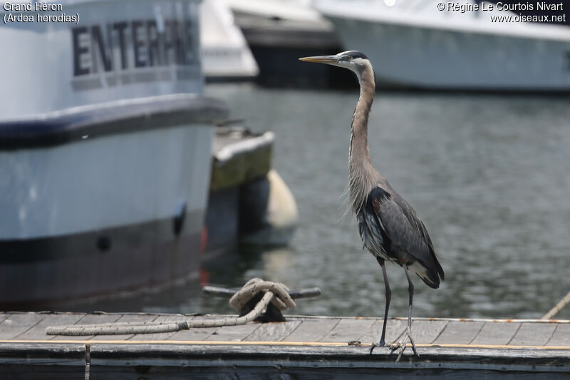
<svg viewBox="0 0 570 380">
<path fill-rule="evenodd" d="M 243 252 L 210 282 L 251 277 L 318 286 L 296 314 L 381 316 L 382 272 L 346 211 L 348 133 L 358 93 L 212 85 L 232 116 L 274 130 L 274 167 L 299 206 L 291 247 Z M 541 317 L 570 291 L 570 107 L 567 98 L 378 94 L 369 138 L 375 167 L 415 207 L 446 280 L 415 281 L 418 317 Z M 407 315 L 403 269 L 388 265 L 391 316 Z M 135 308 L 232 312 L 184 287 Z M 168 301 L 170 300 L 170 301 Z M 170 302 L 170 304 L 169 304 Z M 142 304 L 141 304 L 142 303 Z M 570 309 L 559 314 L 570 318 Z"/>
</svg>

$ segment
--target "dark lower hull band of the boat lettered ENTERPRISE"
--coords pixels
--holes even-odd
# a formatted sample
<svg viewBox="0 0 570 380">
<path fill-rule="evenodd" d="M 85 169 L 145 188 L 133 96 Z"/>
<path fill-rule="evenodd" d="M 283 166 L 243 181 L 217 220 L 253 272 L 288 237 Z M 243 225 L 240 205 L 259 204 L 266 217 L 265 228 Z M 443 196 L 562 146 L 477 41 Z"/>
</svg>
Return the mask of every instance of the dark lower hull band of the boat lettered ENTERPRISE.
<svg viewBox="0 0 570 380">
<path fill-rule="evenodd" d="M 41 307 L 197 277 L 203 210 L 172 237 L 174 217 L 26 240 L 2 240 L 0 304 Z"/>
</svg>

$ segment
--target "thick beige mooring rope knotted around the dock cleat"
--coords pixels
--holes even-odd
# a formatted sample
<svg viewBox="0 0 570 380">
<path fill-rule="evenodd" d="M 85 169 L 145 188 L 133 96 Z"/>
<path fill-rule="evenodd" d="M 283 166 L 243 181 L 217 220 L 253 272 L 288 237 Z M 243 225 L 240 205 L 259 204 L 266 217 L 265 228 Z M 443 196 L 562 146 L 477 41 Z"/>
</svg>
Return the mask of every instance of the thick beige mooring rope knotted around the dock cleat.
<svg viewBox="0 0 570 380">
<path fill-rule="evenodd" d="M 119 322 L 105 324 L 73 324 L 69 326 L 51 326 L 46 328 L 48 335 L 119 335 L 119 334 L 154 334 L 160 332 L 177 332 L 195 327 L 236 326 L 254 321 L 264 312 L 269 303 L 279 310 L 293 309 L 295 301 L 289 295 L 289 289 L 280 282 L 250 279 L 242 289 L 239 289 L 229 304 L 241 311 L 247 302 L 259 292 L 264 292 L 254 309 L 242 317 L 224 317 L 216 319 L 187 320 L 182 322 Z"/>
</svg>

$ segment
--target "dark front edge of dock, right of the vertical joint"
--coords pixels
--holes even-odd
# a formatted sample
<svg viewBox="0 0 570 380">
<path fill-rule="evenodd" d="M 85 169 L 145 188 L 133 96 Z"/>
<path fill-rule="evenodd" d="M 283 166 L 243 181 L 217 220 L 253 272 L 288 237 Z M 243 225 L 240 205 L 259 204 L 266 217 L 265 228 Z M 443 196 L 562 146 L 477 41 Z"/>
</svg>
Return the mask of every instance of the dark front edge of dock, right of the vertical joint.
<svg viewBox="0 0 570 380">
<path fill-rule="evenodd" d="M 388 349 L 369 354 L 368 347 L 346 344 L 240 343 L 93 344 L 90 379 L 530 380 L 568 379 L 570 374 L 570 350 L 422 346 L 420 358 L 406 350 L 395 363 L 396 355 Z M 116 374 L 118 370 L 123 372 Z"/>
</svg>

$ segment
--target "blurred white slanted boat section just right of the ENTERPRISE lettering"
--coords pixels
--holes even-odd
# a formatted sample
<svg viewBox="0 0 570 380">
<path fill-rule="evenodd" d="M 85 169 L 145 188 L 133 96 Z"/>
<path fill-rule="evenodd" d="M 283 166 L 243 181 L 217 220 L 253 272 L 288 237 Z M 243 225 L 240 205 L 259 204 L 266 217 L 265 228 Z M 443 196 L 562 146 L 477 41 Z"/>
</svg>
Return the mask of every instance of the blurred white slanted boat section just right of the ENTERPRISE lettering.
<svg viewBox="0 0 570 380">
<path fill-rule="evenodd" d="M 200 42 L 207 80 L 249 80 L 259 73 L 252 51 L 225 1 L 202 2 Z"/>
</svg>

